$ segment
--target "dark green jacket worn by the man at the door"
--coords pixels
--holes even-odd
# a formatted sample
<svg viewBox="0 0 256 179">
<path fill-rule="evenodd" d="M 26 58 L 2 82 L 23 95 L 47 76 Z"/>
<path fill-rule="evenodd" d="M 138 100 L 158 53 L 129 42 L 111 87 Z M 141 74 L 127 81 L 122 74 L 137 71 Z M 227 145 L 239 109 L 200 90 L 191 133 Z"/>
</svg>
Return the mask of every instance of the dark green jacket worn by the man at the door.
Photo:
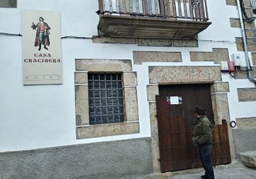
<svg viewBox="0 0 256 179">
<path fill-rule="evenodd" d="M 201 116 L 193 130 L 193 143 L 195 145 L 212 142 L 212 125 L 206 116 Z"/>
</svg>

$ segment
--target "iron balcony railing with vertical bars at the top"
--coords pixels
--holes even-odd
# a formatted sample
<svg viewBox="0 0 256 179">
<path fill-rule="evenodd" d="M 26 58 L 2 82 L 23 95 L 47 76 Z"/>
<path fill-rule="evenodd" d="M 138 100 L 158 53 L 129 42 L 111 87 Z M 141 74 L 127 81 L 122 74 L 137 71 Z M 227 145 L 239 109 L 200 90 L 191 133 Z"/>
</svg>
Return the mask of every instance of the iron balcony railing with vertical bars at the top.
<svg viewBox="0 0 256 179">
<path fill-rule="evenodd" d="M 99 0 L 99 12 L 177 20 L 209 20 L 206 0 Z"/>
</svg>

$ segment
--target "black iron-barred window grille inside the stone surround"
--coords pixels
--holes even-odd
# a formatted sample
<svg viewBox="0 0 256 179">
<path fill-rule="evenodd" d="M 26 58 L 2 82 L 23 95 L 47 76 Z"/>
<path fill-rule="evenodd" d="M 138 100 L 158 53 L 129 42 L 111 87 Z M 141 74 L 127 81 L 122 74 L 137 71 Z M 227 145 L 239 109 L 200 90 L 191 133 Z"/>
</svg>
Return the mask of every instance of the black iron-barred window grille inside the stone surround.
<svg viewBox="0 0 256 179">
<path fill-rule="evenodd" d="M 121 74 L 88 74 L 90 125 L 124 121 Z"/>
</svg>

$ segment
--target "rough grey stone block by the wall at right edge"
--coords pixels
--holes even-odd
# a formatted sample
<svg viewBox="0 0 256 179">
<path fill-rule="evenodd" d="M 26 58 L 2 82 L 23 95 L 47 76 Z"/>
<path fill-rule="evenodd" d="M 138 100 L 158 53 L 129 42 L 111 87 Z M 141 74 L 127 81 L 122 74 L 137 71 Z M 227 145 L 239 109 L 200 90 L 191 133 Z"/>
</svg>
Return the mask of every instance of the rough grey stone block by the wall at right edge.
<svg viewBox="0 0 256 179">
<path fill-rule="evenodd" d="M 241 152 L 239 157 L 245 166 L 256 169 L 256 151 Z"/>
</svg>

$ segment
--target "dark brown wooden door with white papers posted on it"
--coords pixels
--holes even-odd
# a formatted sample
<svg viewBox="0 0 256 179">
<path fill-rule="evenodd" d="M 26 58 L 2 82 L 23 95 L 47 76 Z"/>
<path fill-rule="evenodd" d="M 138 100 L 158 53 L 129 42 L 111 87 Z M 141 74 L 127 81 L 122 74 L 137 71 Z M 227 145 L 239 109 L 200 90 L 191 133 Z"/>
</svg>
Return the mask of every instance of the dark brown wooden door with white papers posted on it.
<svg viewBox="0 0 256 179">
<path fill-rule="evenodd" d="M 214 123 L 209 84 L 159 86 L 159 96 L 156 97 L 156 102 L 161 171 L 200 167 L 198 148 L 193 146 L 191 136 L 196 121 L 194 113 L 196 105 L 203 105 L 207 117 L 212 124 Z M 219 136 L 215 138 L 220 139 Z M 221 138 L 228 139 L 227 135 Z M 218 152 L 219 149 L 220 147 L 218 147 Z M 213 163 L 216 164 L 218 153 L 216 150 L 212 151 L 214 153 Z"/>
</svg>

